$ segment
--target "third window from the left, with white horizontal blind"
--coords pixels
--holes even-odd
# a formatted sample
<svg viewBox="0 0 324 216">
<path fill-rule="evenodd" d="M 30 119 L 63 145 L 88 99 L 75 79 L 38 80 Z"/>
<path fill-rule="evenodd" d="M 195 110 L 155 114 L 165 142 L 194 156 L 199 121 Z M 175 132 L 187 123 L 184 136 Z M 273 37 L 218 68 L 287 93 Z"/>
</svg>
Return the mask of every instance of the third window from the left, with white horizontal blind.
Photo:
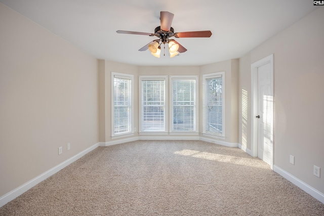
<svg viewBox="0 0 324 216">
<path fill-rule="evenodd" d="M 170 76 L 171 132 L 196 132 L 198 76 Z"/>
</svg>

